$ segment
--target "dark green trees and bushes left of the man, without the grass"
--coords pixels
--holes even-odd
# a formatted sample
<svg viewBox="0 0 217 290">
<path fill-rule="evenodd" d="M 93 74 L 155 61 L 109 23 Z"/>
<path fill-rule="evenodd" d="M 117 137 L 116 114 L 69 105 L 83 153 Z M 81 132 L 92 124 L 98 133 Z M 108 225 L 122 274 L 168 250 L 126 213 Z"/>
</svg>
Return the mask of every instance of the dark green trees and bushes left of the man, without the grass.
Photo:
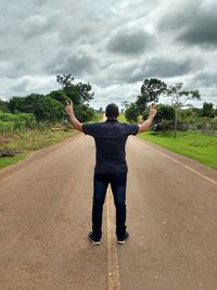
<svg viewBox="0 0 217 290">
<path fill-rule="evenodd" d="M 58 75 L 56 81 L 61 89 L 47 94 L 30 93 L 26 97 L 12 97 L 8 101 L 0 100 L 0 127 L 18 129 L 25 126 L 31 128 L 40 123 L 50 126 L 55 123 L 65 124 L 68 122 L 66 100 L 73 101 L 80 122 L 95 117 L 95 110 L 89 105 L 94 96 L 90 84 L 75 83 L 71 74 Z"/>
</svg>

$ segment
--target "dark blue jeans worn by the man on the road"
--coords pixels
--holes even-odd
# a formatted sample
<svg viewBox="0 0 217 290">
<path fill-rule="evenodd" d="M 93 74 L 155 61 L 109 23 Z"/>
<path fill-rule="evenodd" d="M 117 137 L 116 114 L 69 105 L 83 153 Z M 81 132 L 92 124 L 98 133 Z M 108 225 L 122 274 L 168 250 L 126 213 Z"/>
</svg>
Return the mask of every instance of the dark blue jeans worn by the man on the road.
<svg viewBox="0 0 217 290">
<path fill-rule="evenodd" d="M 122 239 L 126 232 L 127 173 L 99 174 L 93 178 L 92 231 L 95 239 L 102 236 L 102 214 L 107 186 L 111 184 L 116 207 L 116 235 Z"/>
</svg>

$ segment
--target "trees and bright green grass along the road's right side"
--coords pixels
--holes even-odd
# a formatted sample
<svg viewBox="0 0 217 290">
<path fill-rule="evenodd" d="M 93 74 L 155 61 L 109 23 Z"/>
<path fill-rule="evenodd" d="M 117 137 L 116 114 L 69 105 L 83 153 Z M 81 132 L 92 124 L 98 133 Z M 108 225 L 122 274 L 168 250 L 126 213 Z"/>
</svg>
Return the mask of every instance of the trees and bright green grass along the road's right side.
<svg viewBox="0 0 217 290">
<path fill-rule="evenodd" d="M 159 97 L 170 104 L 158 103 Z M 125 116 L 119 121 L 141 123 L 149 116 L 150 104 L 155 103 L 153 127 L 139 137 L 217 168 L 217 108 L 207 102 L 203 108 L 189 103 L 201 98 L 196 89 L 184 90 L 181 83 L 167 86 L 156 78 L 145 79 L 136 101 L 123 102 Z"/>
</svg>

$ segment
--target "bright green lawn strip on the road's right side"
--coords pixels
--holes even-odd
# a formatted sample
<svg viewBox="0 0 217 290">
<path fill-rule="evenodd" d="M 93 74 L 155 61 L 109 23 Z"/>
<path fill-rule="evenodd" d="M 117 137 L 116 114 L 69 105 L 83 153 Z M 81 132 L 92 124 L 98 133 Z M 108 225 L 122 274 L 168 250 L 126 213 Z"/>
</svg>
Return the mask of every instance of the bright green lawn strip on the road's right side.
<svg viewBox="0 0 217 290">
<path fill-rule="evenodd" d="M 217 137 L 202 134 L 178 131 L 177 138 L 173 138 L 173 131 L 165 135 L 144 131 L 139 137 L 155 144 L 162 146 L 176 153 L 192 157 L 205 165 L 217 168 Z"/>
</svg>

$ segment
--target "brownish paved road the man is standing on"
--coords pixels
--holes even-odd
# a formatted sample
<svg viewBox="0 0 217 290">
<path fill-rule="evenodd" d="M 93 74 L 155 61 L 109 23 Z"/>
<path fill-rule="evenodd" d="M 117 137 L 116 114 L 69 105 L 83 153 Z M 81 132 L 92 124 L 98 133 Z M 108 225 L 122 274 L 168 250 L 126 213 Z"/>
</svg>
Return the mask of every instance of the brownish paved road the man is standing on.
<svg viewBox="0 0 217 290">
<path fill-rule="evenodd" d="M 216 290 L 217 172 L 138 138 L 127 143 L 127 225 L 91 244 L 94 142 L 77 135 L 0 171 L 1 290 Z"/>
</svg>

